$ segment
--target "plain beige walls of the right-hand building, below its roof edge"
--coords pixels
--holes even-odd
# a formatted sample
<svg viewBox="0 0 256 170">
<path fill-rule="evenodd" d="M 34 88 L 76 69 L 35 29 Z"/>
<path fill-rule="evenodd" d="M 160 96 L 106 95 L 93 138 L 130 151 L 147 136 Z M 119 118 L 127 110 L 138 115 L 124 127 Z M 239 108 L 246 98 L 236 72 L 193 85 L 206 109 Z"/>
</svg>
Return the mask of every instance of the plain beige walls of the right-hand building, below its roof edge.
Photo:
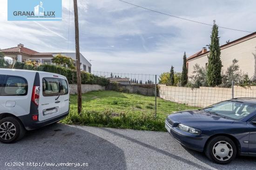
<svg viewBox="0 0 256 170">
<path fill-rule="evenodd" d="M 232 64 L 232 60 L 236 58 L 242 72 L 248 73 L 249 77 L 254 76 L 256 74 L 256 58 L 253 55 L 254 53 L 256 53 L 256 37 L 223 47 L 221 49 L 222 71 L 227 70 Z M 209 53 L 188 61 L 188 76 L 192 76 L 195 63 L 205 67 L 205 64 L 208 63 L 207 55 Z"/>
</svg>

